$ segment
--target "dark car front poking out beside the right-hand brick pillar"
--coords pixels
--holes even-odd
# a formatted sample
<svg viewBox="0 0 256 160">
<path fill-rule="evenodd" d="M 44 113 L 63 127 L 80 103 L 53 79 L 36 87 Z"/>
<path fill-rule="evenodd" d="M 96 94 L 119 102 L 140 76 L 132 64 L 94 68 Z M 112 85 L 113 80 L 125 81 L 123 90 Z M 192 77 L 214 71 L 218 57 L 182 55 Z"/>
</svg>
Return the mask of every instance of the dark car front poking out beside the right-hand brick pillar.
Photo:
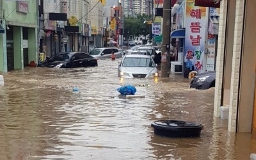
<svg viewBox="0 0 256 160">
<path fill-rule="evenodd" d="M 216 72 L 209 71 L 201 74 L 196 74 L 190 82 L 190 88 L 196 88 L 198 90 L 206 90 L 211 87 L 215 87 Z"/>
</svg>

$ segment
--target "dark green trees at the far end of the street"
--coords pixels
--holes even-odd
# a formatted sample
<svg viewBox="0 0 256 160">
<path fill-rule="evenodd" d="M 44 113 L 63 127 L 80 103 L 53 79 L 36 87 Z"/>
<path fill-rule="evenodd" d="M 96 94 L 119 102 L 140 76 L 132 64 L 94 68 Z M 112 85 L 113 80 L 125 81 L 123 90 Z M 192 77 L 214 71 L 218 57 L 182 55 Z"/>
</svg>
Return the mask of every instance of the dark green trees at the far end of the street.
<svg viewBox="0 0 256 160">
<path fill-rule="evenodd" d="M 126 38 L 128 35 L 140 36 L 150 34 L 152 25 L 143 24 L 145 20 L 150 20 L 148 15 L 145 14 L 137 15 L 137 17 L 125 17 L 124 37 Z"/>
</svg>

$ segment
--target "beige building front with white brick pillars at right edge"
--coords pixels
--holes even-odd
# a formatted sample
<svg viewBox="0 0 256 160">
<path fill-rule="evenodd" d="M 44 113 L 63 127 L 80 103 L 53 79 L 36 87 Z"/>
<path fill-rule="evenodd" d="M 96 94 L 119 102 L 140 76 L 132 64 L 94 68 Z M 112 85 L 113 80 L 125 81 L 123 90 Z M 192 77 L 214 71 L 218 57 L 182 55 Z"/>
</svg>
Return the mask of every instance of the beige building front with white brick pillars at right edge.
<svg viewBox="0 0 256 160">
<path fill-rule="evenodd" d="M 227 106 L 228 131 L 256 130 L 254 0 L 220 1 L 214 116 Z"/>
</svg>

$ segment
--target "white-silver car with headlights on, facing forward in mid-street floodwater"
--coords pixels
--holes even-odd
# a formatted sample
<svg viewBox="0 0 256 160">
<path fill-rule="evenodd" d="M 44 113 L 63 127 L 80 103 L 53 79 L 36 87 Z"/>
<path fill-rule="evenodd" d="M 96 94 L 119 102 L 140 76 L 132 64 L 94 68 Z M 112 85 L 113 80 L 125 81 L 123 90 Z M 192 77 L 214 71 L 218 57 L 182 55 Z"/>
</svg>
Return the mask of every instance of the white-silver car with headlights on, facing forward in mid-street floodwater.
<svg viewBox="0 0 256 160">
<path fill-rule="evenodd" d="M 128 54 L 122 58 L 118 65 L 118 77 L 147 78 L 158 77 L 157 65 L 151 56 L 140 54 Z"/>
</svg>

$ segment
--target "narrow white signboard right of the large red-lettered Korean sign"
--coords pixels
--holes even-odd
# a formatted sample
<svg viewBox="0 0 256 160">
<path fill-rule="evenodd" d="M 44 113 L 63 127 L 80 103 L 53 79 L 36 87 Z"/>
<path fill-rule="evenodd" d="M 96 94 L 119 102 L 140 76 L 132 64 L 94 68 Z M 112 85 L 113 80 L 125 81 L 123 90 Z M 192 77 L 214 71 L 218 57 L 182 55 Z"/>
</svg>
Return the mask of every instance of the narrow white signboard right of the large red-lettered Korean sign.
<svg viewBox="0 0 256 160">
<path fill-rule="evenodd" d="M 208 53 L 207 53 L 207 59 L 206 59 L 206 71 L 212 71 L 214 70 L 215 65 L 215 46 L 216 46 L 216 35 L 208 35 L 207 40 L 207 47 L 208 47 Z"/>
</svg>

